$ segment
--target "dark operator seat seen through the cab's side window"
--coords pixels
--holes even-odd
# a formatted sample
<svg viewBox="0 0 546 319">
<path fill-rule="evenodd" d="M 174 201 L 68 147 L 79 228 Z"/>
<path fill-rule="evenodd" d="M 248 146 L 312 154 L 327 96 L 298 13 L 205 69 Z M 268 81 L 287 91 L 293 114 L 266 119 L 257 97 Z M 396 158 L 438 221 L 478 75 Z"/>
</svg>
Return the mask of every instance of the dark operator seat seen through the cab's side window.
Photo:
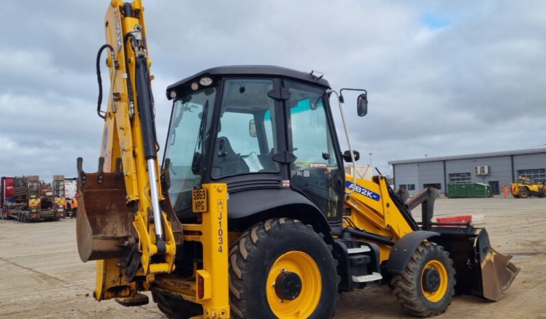
<svg viewBox="0 0 546 319">
<path fill-rule="evenodd" d="M 248 165 L 240 154 L 235 153 L 225 136 L 216 139 L 212 161 L 212 177 L 249 173 Z"/>
</svg>

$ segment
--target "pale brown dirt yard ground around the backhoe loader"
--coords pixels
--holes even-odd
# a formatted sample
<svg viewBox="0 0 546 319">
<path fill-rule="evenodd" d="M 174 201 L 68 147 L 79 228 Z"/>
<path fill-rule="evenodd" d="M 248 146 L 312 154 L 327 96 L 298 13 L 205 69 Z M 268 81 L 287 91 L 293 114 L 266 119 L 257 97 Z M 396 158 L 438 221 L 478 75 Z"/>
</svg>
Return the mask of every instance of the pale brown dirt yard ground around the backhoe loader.
<svg viewBox="0 0 546 319">
<path fill-rule="evenodd" d="M 436 216 L 484 216 L 493 247 L 519 276 L 502 299 L 455 297 L 437 318 L 546 318 L 546 199 L 439 199 Z M 416 211 L 419 209 L 416 209 Z M 94 263 L 81 263 L 75 220 L 0 220 L 0 318 L 164 318 L 154 303 L 126 308 L 91 297 Z M 387 286 L 343 294 L 336 318 L 406 318 Z"/>
</svg>

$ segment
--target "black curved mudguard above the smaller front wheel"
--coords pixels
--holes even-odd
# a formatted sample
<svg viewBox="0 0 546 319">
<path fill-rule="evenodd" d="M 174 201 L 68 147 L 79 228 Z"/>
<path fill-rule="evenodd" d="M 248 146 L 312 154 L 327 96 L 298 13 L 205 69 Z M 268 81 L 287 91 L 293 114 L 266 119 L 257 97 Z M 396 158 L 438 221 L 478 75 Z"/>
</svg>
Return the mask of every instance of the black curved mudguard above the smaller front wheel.
<svg viewBox="0 0 546 319">
<path fill-rule="evenodd" d="M 438 235 L 440 234 L 435 231 L 412 231 L 404 235 L 393 246 L 389 261 L 387 261 L 387 271 L 393 274 L 404 272 L 411 256 L 421 242 Z"/>
</svg>

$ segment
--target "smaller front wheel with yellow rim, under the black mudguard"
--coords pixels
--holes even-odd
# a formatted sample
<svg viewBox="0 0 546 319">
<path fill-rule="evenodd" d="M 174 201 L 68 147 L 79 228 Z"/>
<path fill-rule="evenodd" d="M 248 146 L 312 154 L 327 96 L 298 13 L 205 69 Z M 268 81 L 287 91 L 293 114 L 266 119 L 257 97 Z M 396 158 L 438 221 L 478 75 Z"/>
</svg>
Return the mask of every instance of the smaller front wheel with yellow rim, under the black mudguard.
<svg viewBox="0 0 546 319">
<path fill-rule="evenodd" d="M 437 272 L 437 288 L 428 288 L 424 276 Z M 402 308 L 413 316 L 430 317 L 442 314 L 455 293 L 455 270 L 449 254 L 441 246 L 423 242 L 411 257 L 406 270 L 391 281 L 393 293 Z"/>
</svg>

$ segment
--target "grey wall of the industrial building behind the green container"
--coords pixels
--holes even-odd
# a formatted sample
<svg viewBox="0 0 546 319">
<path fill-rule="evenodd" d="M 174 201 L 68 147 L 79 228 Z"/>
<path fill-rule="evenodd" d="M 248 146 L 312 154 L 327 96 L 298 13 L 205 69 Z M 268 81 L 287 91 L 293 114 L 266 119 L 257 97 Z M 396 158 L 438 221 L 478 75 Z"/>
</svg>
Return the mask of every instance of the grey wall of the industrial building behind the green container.
<svg viewBox="0 0 546 319">
<path fill-rule="evenodd" d="M 502 186 L 510 186 L 512 176 L 517 179 L 518 170 L 546 169 L 546 153 L 512 155 L 514 171 L 512 175 L 512 159 L 510 155 L 476 157 L 469 159 L 447 159 L 445 160 L 445 179 L 443 160 L 434 162 L 417 162 L 394 164 L 393 172 L 395 178 L 395 189 L 400 185 L 414 184 L 415 190 L 409 190 L 415 194 L 423 189 L 424 184 L 439 183 L 440 192 L 445 193 L 444 180 L 450 183 L 450 174 L 470 173 L 471 181 L 475 183 L 498 182 L 499 191 L 502 193 Z M 489 175 L 477 176 L 474 174 L 475 166 L 489 166 Z"/>
</svg>

